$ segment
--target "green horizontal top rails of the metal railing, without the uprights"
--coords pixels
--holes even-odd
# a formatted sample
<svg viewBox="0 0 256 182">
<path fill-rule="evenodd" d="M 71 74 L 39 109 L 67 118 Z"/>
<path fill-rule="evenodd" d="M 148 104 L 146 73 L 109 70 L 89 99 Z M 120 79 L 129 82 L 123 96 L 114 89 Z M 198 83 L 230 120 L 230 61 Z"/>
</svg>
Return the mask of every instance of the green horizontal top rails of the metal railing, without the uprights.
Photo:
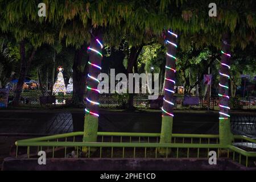
<svg viewBox="0 0 256 182">
<path fill-rule="evenodd" d="M 45 137 L 23 139 L 15 142 L 16 146 L 54 146 L 54 147 L 163 147 L 163 148 L 229 148 L 230 150 L 237 152 L 243 156 L 256 157 L 256 152 L 249 152 L 242 150 L 241 148 L 228 145 L 221 146 L 220 144 L 200 144 L 200 143 L 125 143 L 125 142 L 46 142 L 44 140 L 52 140 L 58 138 L 74 137 L 83 135 L 82 131 L 57 134 Z M 159 133 L 115 133 L 115 132 L 98 132 L 98 136 L 117 136 L 117 137 L 160 137 Z M 218 138 L 218 135 L 209 134 L 172 134 L 172 137 L 176 138 Z M 244 139 L 249 142 L 256 143 L 255 139 L 243 135 L 234 135 L 234 139 Z"/>
</svg>

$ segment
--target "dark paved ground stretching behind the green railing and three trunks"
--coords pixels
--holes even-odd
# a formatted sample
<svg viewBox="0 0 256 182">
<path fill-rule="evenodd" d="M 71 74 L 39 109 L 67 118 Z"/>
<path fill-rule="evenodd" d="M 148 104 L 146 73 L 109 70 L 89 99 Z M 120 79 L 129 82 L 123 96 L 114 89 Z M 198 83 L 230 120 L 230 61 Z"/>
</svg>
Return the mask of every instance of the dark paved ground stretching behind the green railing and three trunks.
<svg viewBox="0 0 256 182">
<path fill-rule="evenodd" d="M 82 131 L 84 113 L 67 110 L 0 111 L 0 164 L 9 155 L 15 140 L 36 135 Z M 109 111 L 102 110 L 99 131 L 160 133 L 159 110 Z M 234 134 L 256 138 L 256 114 L 232 114 Z M 218 134 L 217 111 L 175 111 L 174 133 Z M 30 134 L 30 135 L 28 135 Z"/>
</svg>

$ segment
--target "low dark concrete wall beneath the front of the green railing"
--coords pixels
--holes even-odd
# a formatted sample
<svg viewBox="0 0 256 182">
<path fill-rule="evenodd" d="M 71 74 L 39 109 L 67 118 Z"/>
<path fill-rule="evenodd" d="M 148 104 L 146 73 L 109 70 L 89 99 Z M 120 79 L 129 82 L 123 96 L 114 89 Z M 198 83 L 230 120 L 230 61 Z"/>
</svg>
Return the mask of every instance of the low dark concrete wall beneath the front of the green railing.
<svg viewBox="0 0 256 182">
<path fill-rule="evenodd" d="M 5 158 L 2 170 L 97 170 L 97 171 L 129 171 L 129 170 L 256 170 L 245 168 L 230 159 L 218 159 L 216 165 L 209 165 L 208 159 L 47 159 L 46 165 L 39 165 L 38 159 Z"/>
</svg>

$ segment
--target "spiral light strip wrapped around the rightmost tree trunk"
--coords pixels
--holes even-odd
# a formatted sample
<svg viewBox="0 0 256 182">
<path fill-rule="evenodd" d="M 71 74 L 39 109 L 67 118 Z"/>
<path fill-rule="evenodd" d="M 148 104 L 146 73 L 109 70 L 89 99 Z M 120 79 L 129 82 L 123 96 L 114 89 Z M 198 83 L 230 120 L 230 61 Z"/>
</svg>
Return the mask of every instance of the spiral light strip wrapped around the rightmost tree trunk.
<svg viewBox="0 0 256 182">
<path fill-rule="evenodd" d="M 225 53 L 224 51 L 221 50 L 221 53 L 225 56 L 228 56 L 229 58 L 231 57 L 231 55 L 229 53 Z M 222 59 L 223 60 L 223 59 Z M 224 78 L 230 78 L 229 75 L 227 74 L 224 74 L 223 72 L 228 68 L 230 69 L 230 66 L 226 63 L 221 63 L 221 70 L 219 72 L 220 76 L 221 76 L 221 80 L 223 81 Z M 223 78 L 224 77 L 224 78 Z M 228 82 L 228 81 L 227 81 Z M 229 86 L 226 86 L 226 85 L 223 85 L 221 83 L 219 83 L 218 85 L 220 85 L 220 87 L 224 88 L 224 90 L 222 89 L 222 92 L 224 93 L 228 93 L 228 89 L 229 89 Z M 221 89 L 220 89 L 221 90 Z M 220 104 L 218 105 L 220 107 L 220 117 L 219 119 L 229 119 L 230 118 L 230 115 L 228 114 L 229 113 L 229 109 L 230 107 L 227 105 L 228 102 L 227 100 L 229 100 L 229 96 L 224 94 L 224 93 L 218 93 L 218 96 L 221 97 L 220 99 Z M 226 103 L 226 104 L 223 104 L 223 103 Z"/>
</svg>

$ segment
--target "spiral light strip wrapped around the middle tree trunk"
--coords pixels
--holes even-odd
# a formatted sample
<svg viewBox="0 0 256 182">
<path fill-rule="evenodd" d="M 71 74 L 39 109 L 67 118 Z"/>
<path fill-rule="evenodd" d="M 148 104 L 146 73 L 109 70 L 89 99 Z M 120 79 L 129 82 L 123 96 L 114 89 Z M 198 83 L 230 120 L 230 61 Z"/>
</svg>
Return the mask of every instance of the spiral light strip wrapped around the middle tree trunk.
<svg viewBox="0 0 256 182">
<path fill-rule="evenodd" d="M 166 52 L 166 77 L 164 78 L 164 80 L 170 81 L 170 82 L 166 82 L 166 84 L 164 85 L 164 98 L 163 101 L 166 102 L 166 104 L 163 104 L 162 107 L 162 111 L 163 111 L 163 115 L 169 115 L 171 117 L 174 117 L 174 114 L 172 113 L 173 107 L 174 107 L 174 102 L 173 102 L 173 95 L 175 93 L 174 91 L 174 84 L 175 84 L 175 73 L 176 73 L 176 69 L 175 69 L 175 61 L 177 60 L 177 58 L 175 57 L 175 52 L 170 52 L 170 48 L 171 46 L 177 48 L 177 44 L 176 44 L 176 38 L 177 35 L 174 34 L 173 32 L 171 32 L 170 30 L 167 31 L 168 34 L 167 36 L 165 36 L 165 40 L 164 43 L 168 46 L 167 47 L 167 52 Z M 172 55 L 173 54 L 173 55 Z M 169 58 L 171 57 L 171 59 Z"/>
</svg>

